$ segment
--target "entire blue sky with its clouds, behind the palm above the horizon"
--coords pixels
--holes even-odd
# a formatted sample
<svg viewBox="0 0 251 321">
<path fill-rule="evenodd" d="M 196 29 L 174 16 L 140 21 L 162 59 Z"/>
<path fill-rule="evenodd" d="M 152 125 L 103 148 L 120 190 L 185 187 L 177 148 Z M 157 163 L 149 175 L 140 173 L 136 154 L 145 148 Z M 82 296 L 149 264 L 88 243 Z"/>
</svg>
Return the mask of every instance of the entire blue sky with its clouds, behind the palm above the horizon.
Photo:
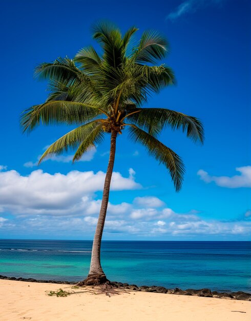
<svg viewBox="0 0 251 321">
<path fill-rule="evenodd" d="M 184 160 L 183 188 L 144 148 L 120 135 L 104 239 L 248 240 L 251 231 L 250 3 L 248 0 L 12 1 L 2 3 L 0 237 L 92 239 L 109 139 L 81 162 L 70 155 L 36 166 L 46 146 L 70 130 L 39 127 L 28 137 L 20 113 L 46 99 L 34 67 L 74 57 L 93 44 L 90 26 L 109 19 L 158 30 L 171 44 L 164 61 L 177 86 L 145 107 L 199 117 L 205 144 L 165 131 L 163 143 Z"/>
</svg>

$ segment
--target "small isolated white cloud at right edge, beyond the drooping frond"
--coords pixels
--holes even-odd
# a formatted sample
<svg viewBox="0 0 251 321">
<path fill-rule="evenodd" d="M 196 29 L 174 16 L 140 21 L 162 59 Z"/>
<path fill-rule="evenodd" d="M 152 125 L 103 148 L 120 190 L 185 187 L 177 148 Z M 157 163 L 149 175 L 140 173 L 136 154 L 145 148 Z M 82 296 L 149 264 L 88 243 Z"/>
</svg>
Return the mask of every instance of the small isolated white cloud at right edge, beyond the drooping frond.
<svg viewBox="0 0 251 321">
<path fill-rule="evenodd" d="M 210 176 L 207 172 L 200 169 L 197 174 L 205 183 L 215 182 L 216 185 L 227 188 L 251 187 L 251 166 L 237 167 L 240 175 L 228 176 Z"/>
</svg>

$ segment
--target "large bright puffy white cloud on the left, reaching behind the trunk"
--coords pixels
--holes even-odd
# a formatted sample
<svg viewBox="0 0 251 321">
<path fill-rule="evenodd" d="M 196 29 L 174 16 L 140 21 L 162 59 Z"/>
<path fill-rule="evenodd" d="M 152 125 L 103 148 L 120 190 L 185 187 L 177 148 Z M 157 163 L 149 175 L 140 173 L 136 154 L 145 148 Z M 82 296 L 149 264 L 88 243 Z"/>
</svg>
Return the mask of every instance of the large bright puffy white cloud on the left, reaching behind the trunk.
<svg viewBox="0 0 251 321">
<path fill-rule="evenodd" d="M 141 188 L 132 171 L 130 169 L 129 177 L 114 172 L 111 190 Z M 94 200 L 93 193 L 102 191 L 105 175 L 101 171 L 52 175 L 35 170 L 28 176 L 22 176 L 15 170 L 0 172 L 0 206 L 12 214 L 94 214 L 99 211 L 100 200 Z M 122 213 L 127 207 L 126 204 L 111 205 L 110 210 Z"/>
</svg>

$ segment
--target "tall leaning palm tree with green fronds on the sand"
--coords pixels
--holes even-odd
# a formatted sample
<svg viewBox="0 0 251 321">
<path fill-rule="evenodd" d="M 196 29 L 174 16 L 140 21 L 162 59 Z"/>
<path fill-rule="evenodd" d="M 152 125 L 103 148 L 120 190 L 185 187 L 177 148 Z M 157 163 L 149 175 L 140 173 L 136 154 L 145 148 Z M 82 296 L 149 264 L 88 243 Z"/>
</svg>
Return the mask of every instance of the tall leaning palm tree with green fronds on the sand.
<svg viewBox="0 0 251 321">
<path fill-rule="evenodd" d="M 30 132 L 39 124 L 77 125 L 57 139 L 41 160 L 73 149 L 73 162 L 95 148 L 110 135 L 111 148 L 102 203 L 92 247 L 91 265 L 86 285 L 107 281 L 100 264 L 101 238 L 106 219 L 118 134 L 127 132 L 132 141 L 142 144 L 149 154 L 171 174 L 176 191 L 182 185 L 184 165 L 181 158 L 158 139 L 165 127 L 181 129 L 193 141 L 203 142 L 203 127 L 192 116 L 164 108 L 142 108 L 152 93 L 173 85 L 172 69 L 157 65 L 169 51 L 165 37 L 154 31 L 143 32 L 133 46 L 138 29 L 124 35 L 111 23 L 92 27 L 93 38 L 101 45 L 101 54 L 92 46 L 81 49 L 74 59 L 57 58 L 35 69 L 39 79 L 48 79 L 47 101 L 24 111 L 21 124 Z"/>
</svg>

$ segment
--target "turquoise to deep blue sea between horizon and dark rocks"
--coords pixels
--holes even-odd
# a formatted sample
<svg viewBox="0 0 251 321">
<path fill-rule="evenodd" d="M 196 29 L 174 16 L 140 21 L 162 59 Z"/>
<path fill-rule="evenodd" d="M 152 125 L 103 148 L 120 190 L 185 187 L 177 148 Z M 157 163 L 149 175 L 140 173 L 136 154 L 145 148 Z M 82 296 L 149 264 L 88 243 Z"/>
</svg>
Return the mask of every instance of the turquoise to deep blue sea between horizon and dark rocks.
<svg viewBox="0 0 251 321">
<path fill-rule="evenodd" d="M 89 240 L 0 239 L 0 274 L 82 280 L 91 247 Z M 101 262 L 122 283 L 251 292 L 251 242 L 103 241 Z"/>
</svg>

